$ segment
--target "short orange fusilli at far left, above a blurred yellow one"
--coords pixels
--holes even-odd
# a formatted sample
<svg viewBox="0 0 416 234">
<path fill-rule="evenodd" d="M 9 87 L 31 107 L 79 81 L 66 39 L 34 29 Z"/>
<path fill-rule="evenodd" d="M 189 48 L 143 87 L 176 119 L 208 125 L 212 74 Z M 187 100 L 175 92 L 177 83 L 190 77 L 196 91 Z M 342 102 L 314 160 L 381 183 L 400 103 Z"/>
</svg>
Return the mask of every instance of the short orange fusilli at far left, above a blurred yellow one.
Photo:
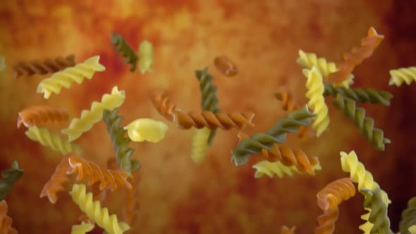
<svg viewBox="0 0 416 234">
<path fill-rule="evenodd" d="M 62 123 L 68 121 L 69 114 L 65 109 L 57 106 L 37 105 L 30 106 L 18 113 L 18 128 L 41 125 L 42 123 Z"/>
</svg>

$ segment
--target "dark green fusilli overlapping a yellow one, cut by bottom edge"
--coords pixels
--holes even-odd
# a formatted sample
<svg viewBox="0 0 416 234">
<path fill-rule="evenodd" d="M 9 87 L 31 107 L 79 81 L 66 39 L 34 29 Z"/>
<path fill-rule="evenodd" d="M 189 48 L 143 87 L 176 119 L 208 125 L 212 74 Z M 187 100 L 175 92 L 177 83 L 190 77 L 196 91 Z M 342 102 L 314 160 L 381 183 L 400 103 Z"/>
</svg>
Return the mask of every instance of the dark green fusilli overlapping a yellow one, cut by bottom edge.
<svg viewBox="0 0 416 234">
<path fill-rule="evenodd" d="M 375 190 L 363 188 L 360 192 L 365 196 L 364 207 L 371 209 L 368 221 L 373 223 L 374 226 L 369 233 L 393 234 L 393 231 L 390 229 L 390 219 L 387 215 L 387 206 L 381 198 L 380 187 L 377 187 Z"/>
</svg>

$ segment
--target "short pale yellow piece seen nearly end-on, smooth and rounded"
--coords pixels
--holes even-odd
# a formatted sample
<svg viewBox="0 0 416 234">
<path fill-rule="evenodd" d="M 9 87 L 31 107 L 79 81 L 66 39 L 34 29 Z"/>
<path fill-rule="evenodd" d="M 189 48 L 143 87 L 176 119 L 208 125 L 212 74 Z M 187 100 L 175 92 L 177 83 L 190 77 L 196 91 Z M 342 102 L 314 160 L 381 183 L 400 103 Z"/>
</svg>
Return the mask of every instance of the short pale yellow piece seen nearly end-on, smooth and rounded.
<svg viewBox="0 0 416 234">
<path fill-rule="evenodd" d="M 133 142 L 153 142 L 157 143 L 164 139 L 168 131 L 168 125 L 152 118 L 137 118 L 124 127 L 128 137 Z"/>
</svg>

